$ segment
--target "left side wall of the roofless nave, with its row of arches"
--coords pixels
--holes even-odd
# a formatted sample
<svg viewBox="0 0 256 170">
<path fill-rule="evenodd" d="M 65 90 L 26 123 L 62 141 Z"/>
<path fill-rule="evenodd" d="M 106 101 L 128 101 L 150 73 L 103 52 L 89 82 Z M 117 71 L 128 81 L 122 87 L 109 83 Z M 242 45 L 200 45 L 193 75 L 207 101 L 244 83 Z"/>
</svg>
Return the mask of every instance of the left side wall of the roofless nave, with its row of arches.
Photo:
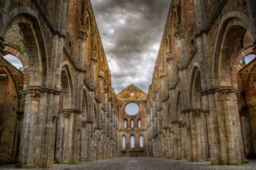
<svg viewBox="0 0 256 170">
<path fill-rule="evenodd" d="M 13 54 L 24 67 L 16 92 L 23 95 L 7 100 L 23 104 L 22 131 L 12 132 L 20 148 L 1 152 L 1 163 L 19 155 L 20 167 L 52 167 L 116 156 L 117 99 L 90 1 L 7 0 L 0 8 L 1 57 Z M 13 112 L 0 115 L 10 122 Z"/>
</svg>

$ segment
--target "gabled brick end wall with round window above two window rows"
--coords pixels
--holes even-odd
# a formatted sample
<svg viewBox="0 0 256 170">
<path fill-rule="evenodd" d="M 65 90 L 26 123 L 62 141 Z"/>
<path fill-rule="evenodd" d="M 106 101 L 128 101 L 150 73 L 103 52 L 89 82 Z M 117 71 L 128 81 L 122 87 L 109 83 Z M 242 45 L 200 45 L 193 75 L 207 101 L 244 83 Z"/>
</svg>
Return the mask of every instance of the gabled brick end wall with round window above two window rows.
<svg viewBox="0 0 256 170">
<path fill-rule="evenodd" d="M 133 93 L 133 94 L 132 94 Z M 133 96 L 132 96 L 132 95 Z M 118 99 L 118 155 L 119 156 L 148 156 L 147 128 L 146 128 L 146 98 L 147 95 L 131 84 L 125 90 L 117 95 Z M 139 111 L 134 116 L 126 113 L 126 105 L 136 103 Z M 138 121 L 141 121 L 141 128 Z M 125 122 L 126 121 L 126 127 Z M 131 126 L 134 121 L 134 126 Z M 131 147 L 131 136 L 134 137 L 134 148 Z M 143 137 L 143 146 L 140 147 L 140 137 Z M 125 140 L 125 148 L 123 147 L 123 137 Z"/>
</svg>

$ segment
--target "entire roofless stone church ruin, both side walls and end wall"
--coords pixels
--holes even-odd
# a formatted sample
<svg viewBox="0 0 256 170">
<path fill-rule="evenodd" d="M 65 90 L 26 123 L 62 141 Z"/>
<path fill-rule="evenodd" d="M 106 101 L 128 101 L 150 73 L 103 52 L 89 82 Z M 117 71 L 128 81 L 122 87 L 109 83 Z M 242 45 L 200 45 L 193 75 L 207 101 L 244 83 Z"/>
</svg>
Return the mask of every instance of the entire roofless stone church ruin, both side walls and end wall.
<svg viewBox="0 0 256 170">
<path fill-rule="evenodd" d="M 254 0 L 172 1 L 148 95 L 115 95 L 89 0 L 3 0 L 0 42 L 0 163 L 256 157 Z"/>
</svg>

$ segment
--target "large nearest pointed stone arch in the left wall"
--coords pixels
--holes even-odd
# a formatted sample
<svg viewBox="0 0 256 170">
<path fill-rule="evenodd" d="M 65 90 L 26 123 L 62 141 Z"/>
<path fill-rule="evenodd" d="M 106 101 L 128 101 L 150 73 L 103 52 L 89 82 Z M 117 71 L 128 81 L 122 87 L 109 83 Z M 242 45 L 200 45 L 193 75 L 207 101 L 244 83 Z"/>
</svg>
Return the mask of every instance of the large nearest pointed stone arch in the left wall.
<svg viewBox="0 0 256 170">
<path fill-rule="evenodd" d="M 26 52 L 28 54 L 28 67 L 30 68 L 29 86 L 47 86 L 48 61 L 45 40 L 38 15 L 27 7 L 19 7 L 9 13 L 7 24 L 3 28 L 3 37 L 6 31 L 13 25 L 18 24 L 24 40 L 26 41 Z"/>
</svg>

